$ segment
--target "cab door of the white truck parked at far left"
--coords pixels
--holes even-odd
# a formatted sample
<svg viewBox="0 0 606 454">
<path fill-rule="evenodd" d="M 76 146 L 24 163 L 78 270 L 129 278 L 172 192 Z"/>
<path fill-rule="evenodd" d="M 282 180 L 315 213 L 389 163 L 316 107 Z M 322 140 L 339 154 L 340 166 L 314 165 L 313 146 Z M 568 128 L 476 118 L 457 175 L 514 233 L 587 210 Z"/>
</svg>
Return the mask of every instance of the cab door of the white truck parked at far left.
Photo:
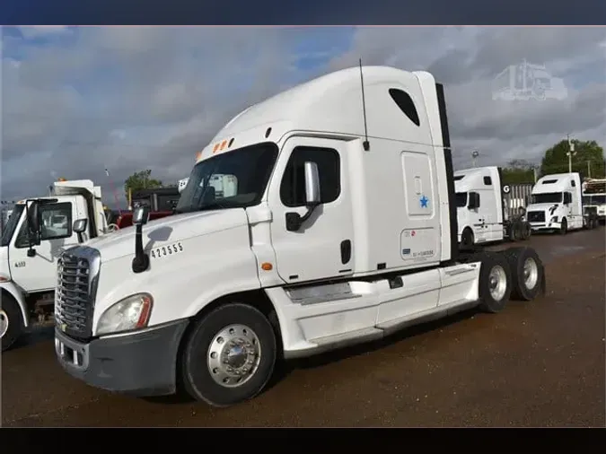
<svg viewBox="0 0 606 454">
<path fill-rule="evenodd" d="M 34 245 L 34 257 L 28 257 L 26 215 L 23 213 L 18 233 L 13 235 L 9 250 L 9 266 L 13 281 L 25 292 L 40 292 L 55 288 L 57 258 L 64 249 L 78 244 L 72 231 L 77 219 L 75 200 L 40 204 L 40 244 Z"/>
</svg>

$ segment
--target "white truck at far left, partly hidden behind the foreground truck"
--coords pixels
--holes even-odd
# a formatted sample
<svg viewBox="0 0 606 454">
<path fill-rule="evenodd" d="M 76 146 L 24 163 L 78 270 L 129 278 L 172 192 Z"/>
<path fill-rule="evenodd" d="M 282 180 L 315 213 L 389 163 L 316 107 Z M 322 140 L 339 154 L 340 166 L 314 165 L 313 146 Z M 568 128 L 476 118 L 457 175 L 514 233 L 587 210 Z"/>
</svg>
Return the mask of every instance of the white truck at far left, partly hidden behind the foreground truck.
<svg viewBox="0 0 606 454">
<path fill-rule="evenodd" d="M 29 231 L 27 209 L 38 210 L 40 227 Z M 3 351 L 25 328 L 54 323 L 57 258 L 78 244 L 73 223 L 86 219 L 87 238 L 107 231 L 101 188 L 91 180 L 57 181 L 53 195 L 22 200 L 4 226 L 0 246 L 0 338 Z"/>
</svg>

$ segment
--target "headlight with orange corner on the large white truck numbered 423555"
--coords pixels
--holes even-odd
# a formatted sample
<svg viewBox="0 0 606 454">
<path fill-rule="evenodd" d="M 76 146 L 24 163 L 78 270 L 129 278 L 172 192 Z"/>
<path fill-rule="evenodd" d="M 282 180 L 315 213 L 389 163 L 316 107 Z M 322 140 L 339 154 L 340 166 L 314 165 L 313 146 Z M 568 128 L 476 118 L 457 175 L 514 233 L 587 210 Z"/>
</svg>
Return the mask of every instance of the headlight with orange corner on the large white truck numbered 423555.
<svg viewBox="0 0 606 454">
<path fill-rule="evenodd" d="M 149 293 L 136 293 L 110 306 L 103 312 L 97 334 L 130 331 L 147 326 L 154 299 Z"/>
</svg>

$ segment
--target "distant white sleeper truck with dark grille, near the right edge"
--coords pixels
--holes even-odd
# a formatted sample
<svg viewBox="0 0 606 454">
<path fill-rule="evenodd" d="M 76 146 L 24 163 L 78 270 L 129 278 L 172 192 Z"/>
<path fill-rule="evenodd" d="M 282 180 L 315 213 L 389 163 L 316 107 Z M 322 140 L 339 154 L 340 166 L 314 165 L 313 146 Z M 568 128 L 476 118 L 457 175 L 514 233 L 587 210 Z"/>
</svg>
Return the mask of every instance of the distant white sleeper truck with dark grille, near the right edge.
<svg viewBox="0 0 606 454">
<path fill-rule="evenodd" d="M 599 220 L 595 206 L 584 206 L 577 172 L 544 175 L 532 188 L 526 219 L 532 231 L 593 229 Z"/>
</svg>

